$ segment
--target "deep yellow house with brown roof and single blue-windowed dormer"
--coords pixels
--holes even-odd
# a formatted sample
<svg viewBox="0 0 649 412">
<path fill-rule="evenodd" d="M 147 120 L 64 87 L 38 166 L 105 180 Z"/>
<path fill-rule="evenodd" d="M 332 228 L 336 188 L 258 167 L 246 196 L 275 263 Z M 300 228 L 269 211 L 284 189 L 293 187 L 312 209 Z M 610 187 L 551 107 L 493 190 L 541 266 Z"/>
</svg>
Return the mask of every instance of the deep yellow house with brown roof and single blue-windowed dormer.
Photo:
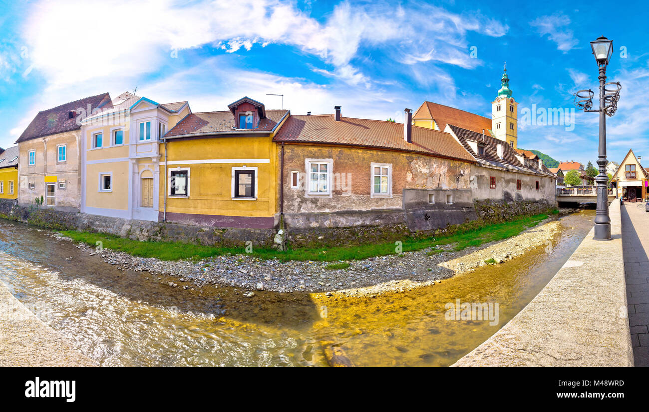
<svg viewBox="0 0 649 412">
<path fill-rule="evenodd" d="M 249 97 L 226 111 L 193 113 L 160 145 L 162 219 L 216 227 L 276 224 L 278 164 L 273 136 L 288 110 Z M 158 201 L 158 199 L 156 199 Z"/>
</svg>

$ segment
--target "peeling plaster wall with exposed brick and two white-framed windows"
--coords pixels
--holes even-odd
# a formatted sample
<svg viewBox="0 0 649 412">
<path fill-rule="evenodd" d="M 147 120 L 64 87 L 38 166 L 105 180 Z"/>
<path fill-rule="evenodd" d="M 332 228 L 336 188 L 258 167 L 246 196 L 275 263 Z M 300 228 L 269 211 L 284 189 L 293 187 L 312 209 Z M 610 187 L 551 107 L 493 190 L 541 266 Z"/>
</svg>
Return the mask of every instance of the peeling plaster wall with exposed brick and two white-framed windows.
<svg viewBox="0 0 649 412">
<path fill-rule="evenodd" d="M 415 224 L 413 229 L 438 227 L 431 225 L 435 220 L 424 220 L 426 210 L 433 212 L 452 209 L 457 212 L 462 209 L 459 204 L 447 206 L 445 202 L 439 202 L 436 206 L 428 205 L 429 191 L 437 191 L 445 199 L 442 192 L 469 190 L 471 167 L 465 162 L 424 154 L 352 147 L 285 145 L 284 151 L 284 216 L 289 228 L 399 224 L 407 221 L 408 213 L 411 214 L 408 219 L 413 223 L 419 221 L 419 215 L 424 222 L 419 226 Z M 306 193 L 306 159 L 333 161 L 330 195 L 312 196 Z M 389 195 L 377 196 L 371 193 L 373 163 L 391 166 Z M 299 173 L 297 188 L 291 188 L 291 172 Z M 406 194 L 409 189 L 421 193 Z M 466 197 L 465 194 L 454 196 L 458 199 Z M 470 197 L 467 199 L 465 200 L 471 201 Z M 437 215 L 441 217 L 440 213 Z M 454 218 L 453 221 L 455 220 L 458 219 Z M 447 223 L 450 221 L 445 221 L 443 225 Z"/>
</svg>

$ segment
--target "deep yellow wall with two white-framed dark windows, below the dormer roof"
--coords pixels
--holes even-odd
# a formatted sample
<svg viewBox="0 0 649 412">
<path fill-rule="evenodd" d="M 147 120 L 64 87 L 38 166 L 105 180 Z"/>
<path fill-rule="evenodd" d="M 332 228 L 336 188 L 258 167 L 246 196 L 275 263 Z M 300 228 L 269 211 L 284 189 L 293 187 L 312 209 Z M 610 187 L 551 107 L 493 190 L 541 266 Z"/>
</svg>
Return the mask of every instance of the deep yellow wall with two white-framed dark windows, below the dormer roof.
<svg viewBox="0 0 649 412">
<path fill-rule="evenodd" d="M 165 176 L 164 145 L 160 145 L 160 176 Z M 178 139 L 167 143 L 169 162 L 181 160 L 268 159 L 269 163 L 232 162 L 212 164 L 169 165 L 169 170 L 190 169 L 188 199 L 167 197 L 167 212 L 244 217 L 272 217 L 276 212 L 277 162 L 271 137 L 210 137 Z M 257 167 L 257 199 L 232 199 L 232 167 Z M 160 210 L 165 197 L 164 180 L 160 180 Z"/>
</svg>

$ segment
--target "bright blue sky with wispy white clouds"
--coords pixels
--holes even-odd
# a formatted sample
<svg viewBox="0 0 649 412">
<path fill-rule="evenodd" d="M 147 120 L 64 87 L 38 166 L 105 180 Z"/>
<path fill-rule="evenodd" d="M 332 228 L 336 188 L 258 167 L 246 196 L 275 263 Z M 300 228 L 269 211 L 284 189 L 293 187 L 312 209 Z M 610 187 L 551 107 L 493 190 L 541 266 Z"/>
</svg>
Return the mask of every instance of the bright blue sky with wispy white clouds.
<svg viewBox="0 0 649 412">
<path fill-rule="evenodd" d="M 40 110 L 136 88 L 193 112 L 243 96 L 281 108 L 271 93 L 292 114 L 342 106 L 343 117 L 402 121 L 428 100 L 491 117 L 507 62 L 519 147 L 585 165 L 597 159 L 598 115 L 572 114 L 572 93 L 598 87 L 589 42 L 604 35 L 615 47 L 607 81 L 622 84 L 608 158 L 631 148 L 649 158 L 649 9 L 612 4 L 1 0 L 0 146 Z M 569 121 L 544 122 L 557 110 Z"/>
</svg>

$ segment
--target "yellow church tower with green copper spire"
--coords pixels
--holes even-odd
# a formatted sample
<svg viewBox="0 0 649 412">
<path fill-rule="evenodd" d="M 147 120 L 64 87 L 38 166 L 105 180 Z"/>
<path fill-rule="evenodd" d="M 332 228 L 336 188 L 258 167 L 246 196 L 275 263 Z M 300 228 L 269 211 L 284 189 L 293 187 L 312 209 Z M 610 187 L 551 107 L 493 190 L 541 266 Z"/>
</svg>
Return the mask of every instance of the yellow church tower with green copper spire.
<svg viewBox="0 0 649 412">
<path fill-rule="evenodd" d="M 500 82 L 502 86 L 498 90 L 498 96 L 491 103 L 491 132 L 496 138 L 518 149 L 518 103 L 511 97 L 507 64 Z"/>
</svg>

